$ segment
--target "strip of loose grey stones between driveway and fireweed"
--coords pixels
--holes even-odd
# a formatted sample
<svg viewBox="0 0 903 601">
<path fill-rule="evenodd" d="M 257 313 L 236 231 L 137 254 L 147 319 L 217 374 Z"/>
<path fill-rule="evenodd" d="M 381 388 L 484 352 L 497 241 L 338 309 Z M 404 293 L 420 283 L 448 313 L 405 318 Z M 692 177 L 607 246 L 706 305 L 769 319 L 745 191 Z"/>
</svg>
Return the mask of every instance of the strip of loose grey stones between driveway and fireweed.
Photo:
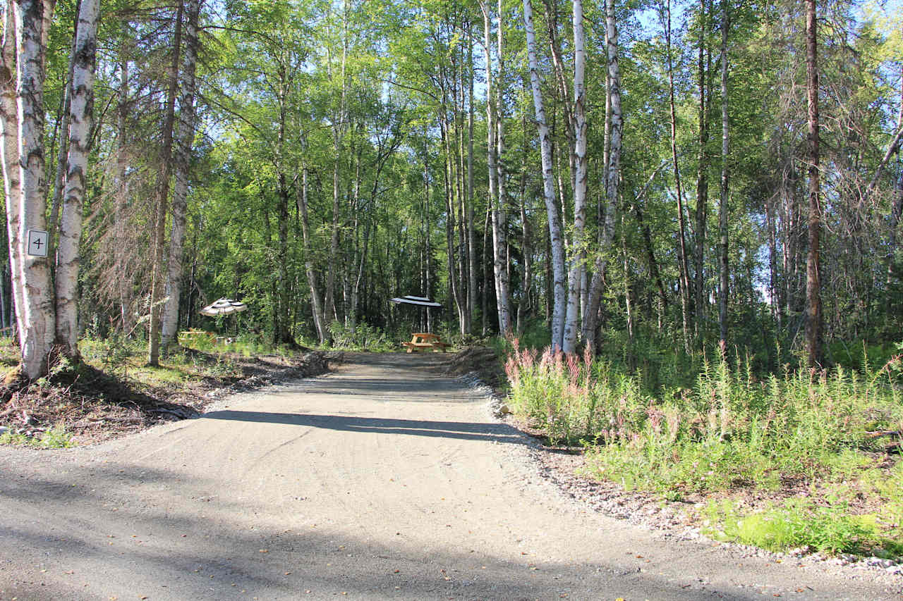
<svg viewBox="0 0 903 601">
<path fill-rule="evenodd" d="M 655 495 L 624 490 L 610 482 L 599 482 L 579 476 L 575 469 L 582 466 L 582 456 L 545 448 L 544 445 L 519 427 L 510 413 L 503 409 L 505 399 L 499 396 L 476 372 L 458 376 L 470 390 L 485 398 L 487 417 L 519 430 L 527 439 L 520 456 L 526 473 L 533 475 L 529 484 L 541 483 L 541 488 L 560 495 L 574 511 L 593 511 L 624 520 L 651 532 L 662 541 L 702 541 L 721 547 L 736 557 L 758 557 L 776 563 L 786 563 L 798 569 L 815 569 L 850 580 L 879 579 L 881 584 L 896 587 L 896 594 L 903 595 L 903 564 L 890 559 L 857 558 L 852 555 L 826 557 L 819 553 L 795 550 L 790 553 L 759 549 L 752 545 L 715 541 L 700 528 L 691 525 L 686 517 L 684 503 L 670 503 Z"/>
</svg>

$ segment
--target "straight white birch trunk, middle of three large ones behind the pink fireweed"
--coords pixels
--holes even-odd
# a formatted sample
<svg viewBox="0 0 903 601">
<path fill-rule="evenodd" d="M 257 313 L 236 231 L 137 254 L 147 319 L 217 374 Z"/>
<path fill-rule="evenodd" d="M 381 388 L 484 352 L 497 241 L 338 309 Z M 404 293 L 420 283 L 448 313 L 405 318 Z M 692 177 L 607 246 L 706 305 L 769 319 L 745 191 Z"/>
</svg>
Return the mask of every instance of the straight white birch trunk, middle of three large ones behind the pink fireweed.
<svg viewBox="0 0 903 601">
<path fill-rule="evenodd" d="M 573 258 L 567 282 L 567 314 L 564 319 L 563 351 L 573 353 L 577 347 L 577 333 L 580 330 L 580 276 L 584 250 L 584 224 L 586 221 L 586 36 L 583 32 L 583 3 L 573 0 Z"/>
</svg>

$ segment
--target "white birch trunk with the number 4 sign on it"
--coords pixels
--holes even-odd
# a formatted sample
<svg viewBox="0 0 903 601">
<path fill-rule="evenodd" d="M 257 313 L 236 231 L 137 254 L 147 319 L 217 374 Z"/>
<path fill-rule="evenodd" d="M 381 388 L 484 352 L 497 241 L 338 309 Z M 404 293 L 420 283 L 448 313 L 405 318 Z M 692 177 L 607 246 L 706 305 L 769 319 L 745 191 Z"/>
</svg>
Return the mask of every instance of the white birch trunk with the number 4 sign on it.
<svg viewBox="0 0 903 601">
<path fill-rule="evenodd" d="M 28 230 L 46 230 L 47 180 L 44 172 L 44 46 L 43 23 L 48 18 L 41 0 L 15 3 L 16 108 L 19 117 L 20 224 L 19 249 L 23 272 L 24 374 L 47 372 L 54 337 L 53 300 L 48 259 L 26 253 Z"/>
</svg>

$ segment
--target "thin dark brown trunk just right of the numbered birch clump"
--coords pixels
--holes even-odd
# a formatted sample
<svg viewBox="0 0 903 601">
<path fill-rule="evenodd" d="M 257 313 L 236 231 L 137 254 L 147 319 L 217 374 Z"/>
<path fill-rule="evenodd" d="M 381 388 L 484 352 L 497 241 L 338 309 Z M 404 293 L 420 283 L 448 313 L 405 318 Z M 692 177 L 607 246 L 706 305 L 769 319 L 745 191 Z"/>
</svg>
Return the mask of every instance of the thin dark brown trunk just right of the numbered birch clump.
<svg viewBox="0 0 903 601">
<path fill-rule="evenodd" d="M 172 38 L 172 65 L 169 89 L 166 91 L 166 114 L 163 117 L 163 143 L 160 148 L 160 177 L 157 180 L 157 212 L 154 221 L 154 266 L 151 276 L 151 324 L 147 363 L 160 365 L 160 314 L 163 301 L 163 254 L 166 237 L 166 215 L 169 212 L 169 189 L 172 179 L 172 129 L 175 124 L 175 96 L 179 86 L 179 65 L 182 52 L 182 14 L 184 0 L 179 0 L 175 14 L 175 34 Z"/>
</svg>

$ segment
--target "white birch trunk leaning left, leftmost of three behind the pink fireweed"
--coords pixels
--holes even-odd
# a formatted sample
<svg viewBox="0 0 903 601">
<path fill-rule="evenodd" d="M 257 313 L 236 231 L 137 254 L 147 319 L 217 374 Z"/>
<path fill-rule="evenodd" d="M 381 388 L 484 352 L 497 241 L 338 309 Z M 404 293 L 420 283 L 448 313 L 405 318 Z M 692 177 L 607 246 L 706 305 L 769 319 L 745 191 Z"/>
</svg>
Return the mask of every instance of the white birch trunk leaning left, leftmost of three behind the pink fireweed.
<svg viewBox="0 0 903 601">
<path fill-rule="evenodd" d="M 539 82 L 539 67 L 536 60 L 536 36 L 533 26 L 533 6 L 524 0 L 524 25 L 526 27 L 526 54 L 530 68 L 530 88 L 533 89 L 533 106 L 536 114 L 536 129 L 539 134 L 540 157 L 543 165 L 543 197 L 545 212 L 549 220 L 549 239 L 552 247 L 553 309 L 552 309 L 552 349 L 563 347 L 564 335 L 564 243 L 561 217 L 555 204 L 555 182 L 552 172 L 552 138 L 545 121 L 543 92 Z"/>
</svg>

